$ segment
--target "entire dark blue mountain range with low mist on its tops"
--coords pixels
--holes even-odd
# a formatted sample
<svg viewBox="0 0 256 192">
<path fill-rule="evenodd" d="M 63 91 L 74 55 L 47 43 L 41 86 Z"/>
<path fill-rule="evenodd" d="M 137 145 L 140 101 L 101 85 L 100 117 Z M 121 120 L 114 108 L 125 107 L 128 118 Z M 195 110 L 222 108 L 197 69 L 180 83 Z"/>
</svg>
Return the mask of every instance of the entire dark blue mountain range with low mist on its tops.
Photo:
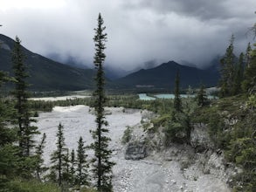
<svg viewBox="0 0 256 192">
<path fill-rule="evenodd" d="M 2 46 L 0 49 L 0 70 L 12 73 L 11 50 L 14 41 L 4 35 L 0 35 Z M 25 63 L 30 67 L 31 77 L 28 82 L 32 90 L 82 90 L 92 89 L 94 81 L 93 64 L 83 65 L 73 57 L 67 57 L 65 65 L 45 58 L 23 47 L 26 55 Z M 58 54 L 52 54 L 51 58 L 60 60 Z M 175 61 L 157 65 L 157 60 L 144 62 L 141 67 L 133 72 L 122 70 L 121 67 L 113 67 L 105 64 L 105 76 L 107 87 L 111 89 L 137 89 L 149 87 L 149 89 L 172 90 L 176 72 L 180 72 L 180 84 L 182 88 L 188 86 L 197 87 L 201 83 L 205 86 L 216 86 L 218 83 L 219 58 L 212 60 L 207 69 L 198 69 L 188 65 L 180 65 Z M 188 64 L 188 62 L 186 63 Z M 109 79 L 109 80 L 108 80 Z"/>
</svg>

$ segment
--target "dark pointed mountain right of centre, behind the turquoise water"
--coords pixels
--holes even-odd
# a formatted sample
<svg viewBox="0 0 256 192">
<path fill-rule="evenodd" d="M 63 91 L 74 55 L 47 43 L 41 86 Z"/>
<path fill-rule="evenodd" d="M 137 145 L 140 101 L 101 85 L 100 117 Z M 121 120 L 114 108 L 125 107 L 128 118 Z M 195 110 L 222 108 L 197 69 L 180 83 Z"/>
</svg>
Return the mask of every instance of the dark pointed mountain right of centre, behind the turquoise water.
<svg viewBox="0 0 256 192">
<path fill-rule="evenodd" d="M 201 83 L 205 86 L 216 86 L 218 83 L 218 72 L 179 65 L 173 60 L 157 65 L 154 68 L 133 72 L 116 81 L 121 86 L 128 86 L 130 88 L 151 86 L 155 88 L 173 89 L 177 71 L 180 72 L 180 85 L 182 88 L 200 86 Z"/>
</svg>

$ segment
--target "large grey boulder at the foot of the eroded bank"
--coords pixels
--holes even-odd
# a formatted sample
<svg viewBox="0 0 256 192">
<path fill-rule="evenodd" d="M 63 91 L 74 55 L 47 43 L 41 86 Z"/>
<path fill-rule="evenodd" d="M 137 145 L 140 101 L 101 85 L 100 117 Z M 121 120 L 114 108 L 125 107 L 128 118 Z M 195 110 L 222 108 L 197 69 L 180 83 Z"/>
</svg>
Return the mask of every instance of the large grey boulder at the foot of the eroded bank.
<svg viewBox="0 0 256 192">
<path fill-rule="evenodd" d="M 143 142 L 129 142 L 125 150 L 126 160 L 141 160 L 147 156 L 146 146 Z"/>
</svg>

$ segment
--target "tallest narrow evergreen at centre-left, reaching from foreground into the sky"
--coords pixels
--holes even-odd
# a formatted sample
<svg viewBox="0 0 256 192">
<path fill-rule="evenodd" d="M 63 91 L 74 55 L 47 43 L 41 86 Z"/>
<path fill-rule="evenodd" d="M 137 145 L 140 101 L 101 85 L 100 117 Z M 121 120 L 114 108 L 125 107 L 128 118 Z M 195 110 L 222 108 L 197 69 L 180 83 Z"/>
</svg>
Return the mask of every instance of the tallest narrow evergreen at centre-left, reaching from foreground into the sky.
<svg viewBox="0 0 256 192">
<path fill-rule="evenodd" d="M 114 162 L 110 161 L 112 151 L 108 149 L 108 143 L 111 141 L 107 137 L 109 130 L 107 129 L 107 120 L 105 120 L 104 104 L 106 102 L 106 96 L 104 91 L 104 71 L 103 63 L 106 58 L 104 50 L 106 49 L 105 43 L 107 42 L 106 29 L 103 26 L 104 21 L 101 15 L 98 17 L 98 26 L 95 31 L 93 41 L 95 43 L 95 55 L 94 65 L 96 69 L 96 90 L 93 93 L 94 96 L 94 108 L 96 113 L 96 130 L 92 131 L 93 144 L 91 147 L 94 150 L 93 157 L 93 178 L 96 180 L 96 188 L 99 192 L 112 191 L 112 167 Z"/>
</svg>

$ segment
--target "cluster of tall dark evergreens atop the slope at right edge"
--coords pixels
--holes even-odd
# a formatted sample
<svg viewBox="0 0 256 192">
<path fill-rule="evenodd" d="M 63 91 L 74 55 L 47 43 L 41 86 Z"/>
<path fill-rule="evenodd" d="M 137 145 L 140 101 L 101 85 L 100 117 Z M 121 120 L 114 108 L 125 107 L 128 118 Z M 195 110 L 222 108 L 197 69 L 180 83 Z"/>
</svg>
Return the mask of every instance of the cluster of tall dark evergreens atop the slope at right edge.
<svg viewBox="0 0 256 192">
<path fill-rule="evenodd" d="M 256 91 L 256 50 L 248 43 L 246 52 L 241 52 L 237 58 L 234 54 L 234 40 L 232 35 L 225 56 L 220 60 L 219 96 L 222 98 Z"/>
</svg>

